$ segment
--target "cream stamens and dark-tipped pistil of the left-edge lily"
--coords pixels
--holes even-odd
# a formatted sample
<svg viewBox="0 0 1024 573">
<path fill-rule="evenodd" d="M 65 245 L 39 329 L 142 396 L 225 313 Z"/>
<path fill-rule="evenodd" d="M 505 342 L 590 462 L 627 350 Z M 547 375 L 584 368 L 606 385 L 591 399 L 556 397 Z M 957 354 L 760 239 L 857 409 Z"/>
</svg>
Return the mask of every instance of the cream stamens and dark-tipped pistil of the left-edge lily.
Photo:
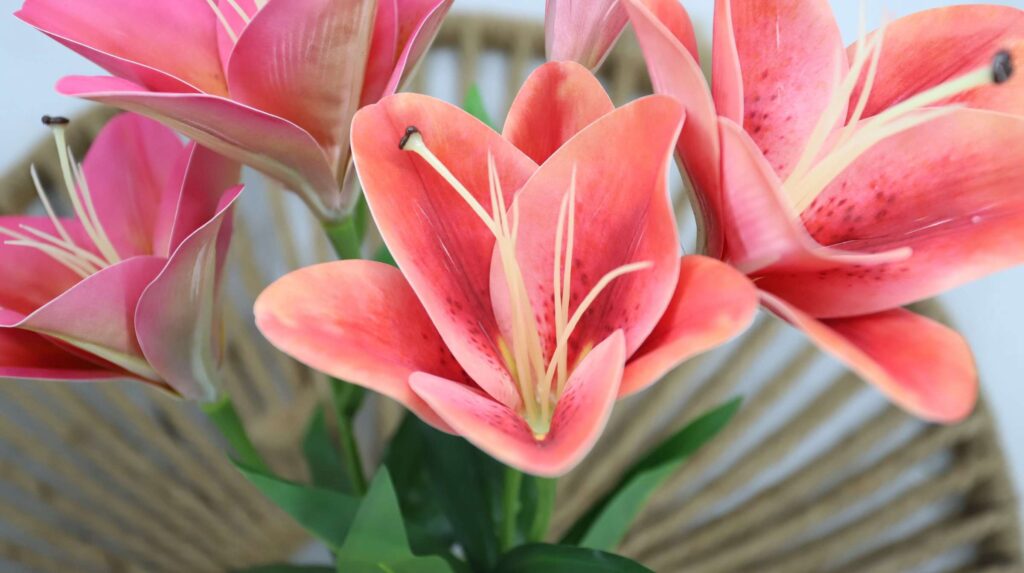
<svg viewBox="0 0 1024 573">
<path fill-rule="evenodd" d="M 99 217 L 96 216 L 96 208 L 92 203 L 92 194 L 89 192 L 89 185 L 85 180 L 82 166 L 75 161 L 71 147 L 68 146 L 66 136 L 68 120 L 47 116 L 43 118 L 43 123 L 53 130 L 60 171 L 63 175 L 65 187 L 68 190 L 72 209 L 82 224 L 82 230 L 99 255 L 83 249 L 72 238 L 46 197 L 35 166 L 31 168 L 32 181 L 35 183 L 36 192 L 39 193 L 39 202 L 53 224 L 56 234 L 20 224 L 17 229 L 0 226 L 0 235 L 7 237 L 4 245 L 41 251 L 54 261 L 75 271 L 82 278 L 86 278 L 100 269 L 121 262 L 121 257 L 103 230 Z"/>
</svg>

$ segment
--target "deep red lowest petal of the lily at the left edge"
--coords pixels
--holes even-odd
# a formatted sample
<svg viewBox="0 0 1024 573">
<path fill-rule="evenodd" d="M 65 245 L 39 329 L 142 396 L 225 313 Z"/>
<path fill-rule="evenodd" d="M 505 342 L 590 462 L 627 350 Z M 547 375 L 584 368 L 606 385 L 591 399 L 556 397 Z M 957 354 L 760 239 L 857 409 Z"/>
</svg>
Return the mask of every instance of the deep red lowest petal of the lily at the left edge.
<svg viewBox="0 0 1024 573">
<path fill-rule="evenodd" d="M 119 376 L 75 356 L 45 337 L 0 327 L 0 378 L 85 381 Z"/>
</svg>

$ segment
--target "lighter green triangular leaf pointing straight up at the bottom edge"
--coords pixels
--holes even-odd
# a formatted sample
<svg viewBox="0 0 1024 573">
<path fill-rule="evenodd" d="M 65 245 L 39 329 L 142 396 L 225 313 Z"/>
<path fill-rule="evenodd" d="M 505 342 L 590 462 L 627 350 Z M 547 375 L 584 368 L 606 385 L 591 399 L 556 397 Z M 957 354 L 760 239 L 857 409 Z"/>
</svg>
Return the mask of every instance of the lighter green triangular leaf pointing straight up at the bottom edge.
<svg viewBox="0 0 1024 573">
<path fill-rule="evenodd" d="M 346 573 L 452 573 L 439 557 L 413 555 L 387 468 L 381 468 L 370 484 L 337 559 L 338 571 Z"/>
</svg>

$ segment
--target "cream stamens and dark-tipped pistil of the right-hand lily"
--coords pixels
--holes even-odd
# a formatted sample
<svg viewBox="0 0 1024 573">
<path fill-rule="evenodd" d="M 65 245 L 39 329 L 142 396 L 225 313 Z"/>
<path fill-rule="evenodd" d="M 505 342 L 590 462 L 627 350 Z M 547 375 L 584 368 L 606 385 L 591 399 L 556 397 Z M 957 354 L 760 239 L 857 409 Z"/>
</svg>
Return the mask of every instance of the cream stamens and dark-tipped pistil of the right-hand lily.
<svg viewBox="0 0 1024 573">
<path fill-rule="evenodd" d="M 785 195 L 797 213 L 810 207 L 833 180 L 874 145 L 959 108 L 956 104 L 935 104 L 981 87 L 1001 84 L 1013 74 L 1010 52 L 1000 51 L 991 64 L 953 78 L 861 121 L 878 75 L 884 38 L 885 27 L 869 40 L 861 34 L 849 74 L 822 112 L 800 160 L 783 183 Z M 863 88 L 853 114 L 836 133 L 834 127 L 843 120 L 865 68 Z"/>
</svg>

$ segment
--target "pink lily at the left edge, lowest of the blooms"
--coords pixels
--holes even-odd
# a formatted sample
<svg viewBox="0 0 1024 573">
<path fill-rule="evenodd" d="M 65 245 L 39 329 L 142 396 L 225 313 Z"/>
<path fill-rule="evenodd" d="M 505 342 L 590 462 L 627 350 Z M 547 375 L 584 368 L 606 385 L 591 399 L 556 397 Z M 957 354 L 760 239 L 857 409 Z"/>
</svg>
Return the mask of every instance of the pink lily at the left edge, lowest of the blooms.
<svg viewBox="0 0 1024 573">
<path fill-rule="evenodd" d="M 239 165 L 160 124 L 112 120 L 79 164 L 52 126 L 74 218 L 0 217 L 0 377 L 132 378 L 213 400 L 215 299 Z"/>
</svg>

